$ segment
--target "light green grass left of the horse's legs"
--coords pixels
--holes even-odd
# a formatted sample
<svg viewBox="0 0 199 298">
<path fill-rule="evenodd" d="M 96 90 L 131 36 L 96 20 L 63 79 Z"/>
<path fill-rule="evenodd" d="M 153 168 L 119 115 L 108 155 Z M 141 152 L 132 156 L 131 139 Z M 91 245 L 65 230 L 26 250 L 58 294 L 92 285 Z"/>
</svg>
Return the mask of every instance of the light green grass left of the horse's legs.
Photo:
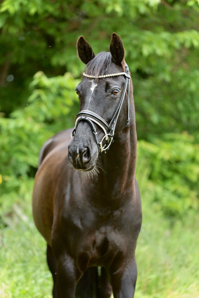
<svg viewBox="0 0 199 298">
<path fill-rule="evenodd" d="M 1 298 L 52 297 L 45 241 L 31 223 L 19 221 L 1 233 Z"/>
</svg>

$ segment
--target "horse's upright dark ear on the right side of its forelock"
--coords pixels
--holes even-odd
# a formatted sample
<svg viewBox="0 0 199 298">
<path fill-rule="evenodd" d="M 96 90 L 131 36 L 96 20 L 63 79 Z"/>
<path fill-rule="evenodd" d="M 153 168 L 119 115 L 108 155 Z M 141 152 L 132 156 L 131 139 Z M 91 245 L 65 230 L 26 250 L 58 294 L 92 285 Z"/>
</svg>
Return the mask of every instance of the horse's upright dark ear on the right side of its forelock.
<svg viewBox="0 0 199 298">
<path fill-rule="evenodd" d="M 123 47 L 122 39 L 115 32 L 112 34 L 109 50 L 112 55 L 113 62 L 116 64 L 123 65 L 124 64 L 124 47 Z"/>
</svg>

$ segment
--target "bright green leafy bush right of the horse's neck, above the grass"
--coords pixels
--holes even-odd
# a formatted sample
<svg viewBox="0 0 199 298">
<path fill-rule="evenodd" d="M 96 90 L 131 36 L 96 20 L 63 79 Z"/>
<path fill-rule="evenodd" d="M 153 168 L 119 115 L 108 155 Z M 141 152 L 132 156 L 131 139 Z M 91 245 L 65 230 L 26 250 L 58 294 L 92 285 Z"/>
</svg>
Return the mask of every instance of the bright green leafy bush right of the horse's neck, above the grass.
<svg viewBox="0 0 199 298">
<path fill-rule="evenodd" d="M 166 216 L 186 218 L 199 207 L 199 145 L 187 133 L 165 134 L 154 143 L 138 142 L 138 167 L 147 160 L 152 203 Z"/>
</svg>

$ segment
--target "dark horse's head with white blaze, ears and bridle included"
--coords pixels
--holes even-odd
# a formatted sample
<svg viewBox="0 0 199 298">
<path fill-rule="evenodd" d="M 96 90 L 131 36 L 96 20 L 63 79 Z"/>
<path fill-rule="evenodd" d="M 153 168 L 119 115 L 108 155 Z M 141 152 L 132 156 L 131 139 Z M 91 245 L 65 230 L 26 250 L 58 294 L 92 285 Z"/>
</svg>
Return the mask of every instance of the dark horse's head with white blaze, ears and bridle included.
<svg viewBox="0 0 199 298">
<path fill-rule="evenodd" d="M 98 155 L 106 153 L 114 135 L 128 124 L 130 75 L 122 40 L 116 33 L 109 51 L 95 56 L 83 36 L 77 40 L 77 54 L 86 64 L 86 73 L 76 87 L 80 112 L 75 117 L 68 158 L 78 170 L 94 169 Z"/>
</svg>

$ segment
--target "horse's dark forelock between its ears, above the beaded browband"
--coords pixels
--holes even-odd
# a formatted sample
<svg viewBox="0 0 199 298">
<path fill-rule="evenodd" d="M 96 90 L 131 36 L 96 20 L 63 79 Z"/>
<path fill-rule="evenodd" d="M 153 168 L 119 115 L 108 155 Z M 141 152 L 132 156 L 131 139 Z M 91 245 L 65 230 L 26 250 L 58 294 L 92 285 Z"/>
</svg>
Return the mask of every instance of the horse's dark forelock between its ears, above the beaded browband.
<svg viewBox="0 0 199 298">
<path fill-rule="evenodd" d="M 106 75 L 106 70 L 111 63 L 111 53 L 100 52 L 88 62 L 86 73 L 88 75 Z"/>
</svg>

